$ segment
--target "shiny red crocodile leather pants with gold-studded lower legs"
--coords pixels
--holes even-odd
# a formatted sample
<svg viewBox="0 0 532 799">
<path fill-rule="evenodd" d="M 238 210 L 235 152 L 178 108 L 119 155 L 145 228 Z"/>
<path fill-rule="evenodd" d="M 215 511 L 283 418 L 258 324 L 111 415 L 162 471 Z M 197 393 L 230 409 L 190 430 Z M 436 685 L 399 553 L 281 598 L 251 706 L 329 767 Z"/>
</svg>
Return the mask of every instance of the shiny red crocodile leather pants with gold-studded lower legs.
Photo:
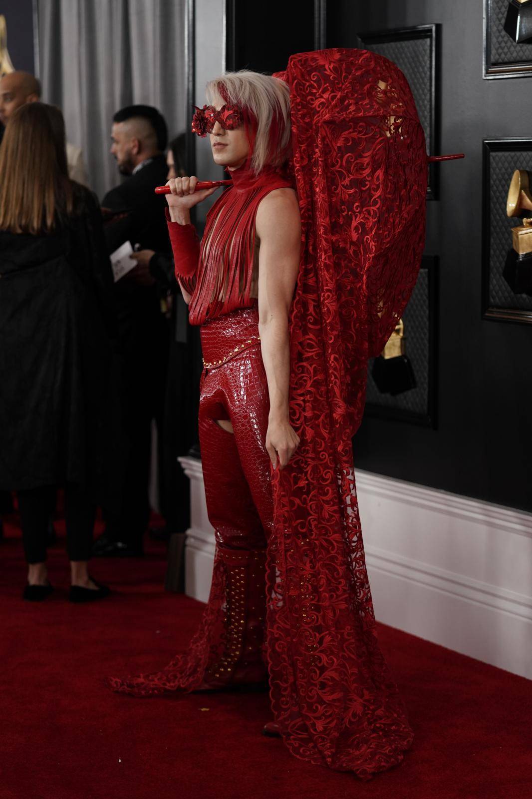
<svg viewBox="0 0 532 799">
<path fill-rule="evenodd" d="M 256 304 L 202 325 L 200 450 L 208 519 L 223 570 L 224 642 L 203 688 L 263 682 L 266 545 L 272 531 L 268 383 Z M 233 432 L 216 423 L 230 419 Z M 220 575 L 215 574 L 218 581 Z"/>
</svg>

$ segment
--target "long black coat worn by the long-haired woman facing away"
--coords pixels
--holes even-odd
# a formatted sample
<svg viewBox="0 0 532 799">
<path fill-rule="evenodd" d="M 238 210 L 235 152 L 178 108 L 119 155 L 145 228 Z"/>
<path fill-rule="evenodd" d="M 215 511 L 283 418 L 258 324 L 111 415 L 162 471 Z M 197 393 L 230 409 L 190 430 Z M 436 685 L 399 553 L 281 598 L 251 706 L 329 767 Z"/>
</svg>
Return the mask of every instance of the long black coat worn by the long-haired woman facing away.
<svg viewBox="0 0 532 799">
<path fill-rule="evenodd" d="M 0 231 L 0 489 L 105 491 L 113 278 L 97 200 L 50 235 Z M 114 422 L 113 422 L 114 423 Z"/>
</svg>

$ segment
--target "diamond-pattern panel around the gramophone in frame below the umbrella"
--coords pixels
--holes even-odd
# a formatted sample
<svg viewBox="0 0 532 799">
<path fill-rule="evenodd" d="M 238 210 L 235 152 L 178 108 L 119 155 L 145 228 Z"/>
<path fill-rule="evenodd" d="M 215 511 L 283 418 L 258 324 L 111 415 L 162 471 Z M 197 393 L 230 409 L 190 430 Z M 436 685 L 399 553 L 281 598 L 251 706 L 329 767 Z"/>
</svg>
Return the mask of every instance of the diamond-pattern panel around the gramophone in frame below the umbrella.
<svg viewBox="0 0 532 799">
<path fill-rule="evenodd" d="M 381 394 L 371 377 L 373 359 L 367 371 L 366 402 L 380 407 L 391 407 L 401 411 L 411 411 L 419 415 L 429 412 L 429 270 L 419 271 L 418 282 L 403 313 L 404 332 L 406 336 L 407 356 L 414 369 L 416 388 L 398 396 Z"/>
</svg>

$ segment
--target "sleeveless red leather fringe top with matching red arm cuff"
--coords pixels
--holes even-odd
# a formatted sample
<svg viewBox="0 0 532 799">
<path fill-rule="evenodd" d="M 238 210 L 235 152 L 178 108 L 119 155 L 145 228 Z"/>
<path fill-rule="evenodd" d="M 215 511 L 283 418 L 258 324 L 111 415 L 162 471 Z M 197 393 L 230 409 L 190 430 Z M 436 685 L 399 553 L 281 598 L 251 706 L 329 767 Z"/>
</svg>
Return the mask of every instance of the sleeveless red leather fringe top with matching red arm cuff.
<svg viewBox="0 0 532 799">
<path fill-rule="evenodd" d="M 201 244 L 193 225 L 171 222 L 166 213 L 176 277 L 192 295 L 190 324 L 252 305 L 256 209 L 274 189 L 293 187 L 276 169 L 254 175 L 240 167 L 230 175 L 232 186 L 209 210 Z"/>
</svg>

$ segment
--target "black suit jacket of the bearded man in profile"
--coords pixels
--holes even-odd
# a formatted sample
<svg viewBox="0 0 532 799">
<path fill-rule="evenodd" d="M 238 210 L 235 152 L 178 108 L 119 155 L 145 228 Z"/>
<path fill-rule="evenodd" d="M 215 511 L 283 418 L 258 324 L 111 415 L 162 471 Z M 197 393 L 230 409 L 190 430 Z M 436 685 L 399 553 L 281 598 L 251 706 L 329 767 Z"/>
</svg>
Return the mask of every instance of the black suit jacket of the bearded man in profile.
<svg viewBox="0 0 532 799">
<path fill-rule="evenodd" d="M 128 240 L 133 245 L 140 244 L 141 249 L 170 252 L 165 197 L 153 193 L 156 186 L 166 183 L 167 174 L 165 156 L 157 155 L 136 174 L 105 194 L 102 208 L 125 212 L 125 217 L 105 225 L 109 253 Z"/>
</svg>

